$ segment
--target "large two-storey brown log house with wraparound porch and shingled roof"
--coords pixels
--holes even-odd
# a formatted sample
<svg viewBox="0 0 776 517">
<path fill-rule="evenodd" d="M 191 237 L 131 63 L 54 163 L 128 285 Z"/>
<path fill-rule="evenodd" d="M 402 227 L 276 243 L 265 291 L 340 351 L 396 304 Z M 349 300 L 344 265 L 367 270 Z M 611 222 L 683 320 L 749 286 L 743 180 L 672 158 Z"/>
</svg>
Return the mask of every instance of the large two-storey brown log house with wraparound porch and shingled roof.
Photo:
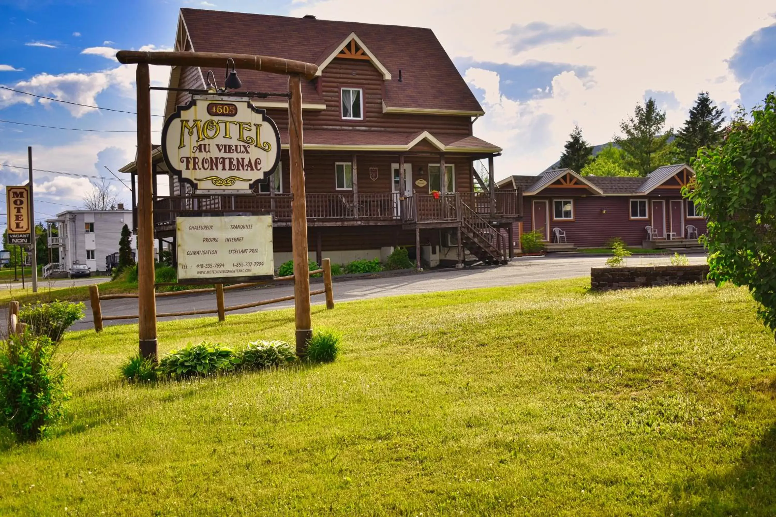
<svg viewBox="0 0 776 517">
<path fill-rule="evenodd" d="M 484 160 L 480 170 L 494 185 L 493 159 L 501 148 L 473 136 L 473 121 L 483 109 L 430 29 L 181 9 L 175 50 L 263 54 L 318 65 L 317 78 L 302 84 L 312 260 L 385 260 L 394 246 L 411 248 L 413 256 L 416 241 L 431 266 L 465 258 L 500 262 L 509 255 L 509 235 L 521 220 L 520 189 L 485 188 L 475 167 Z M 206 88 L 207 72 L 173 67 L 170 86 Z M 223 81 L 223 69 L 213 73 Z M 287 91 L 286 76 L 239 76 L 242 91 Z M 188 92 L 169 92 L 165 115 L 189 98 Z M 252 102 L 280 130 L 275 181 L 255 195 L 198 196 L 171 175 L 169 195 L 154 192 L 155 236 L 165 247 L 175 250 L 176 214 L 269 213 L 275 264 L 290 259 L 288 103 Z M 155 175 L 168 174 L 158 148 L 152 160 Z M 135 164 L 121 171 L 134 182 Z"/>
</svg>

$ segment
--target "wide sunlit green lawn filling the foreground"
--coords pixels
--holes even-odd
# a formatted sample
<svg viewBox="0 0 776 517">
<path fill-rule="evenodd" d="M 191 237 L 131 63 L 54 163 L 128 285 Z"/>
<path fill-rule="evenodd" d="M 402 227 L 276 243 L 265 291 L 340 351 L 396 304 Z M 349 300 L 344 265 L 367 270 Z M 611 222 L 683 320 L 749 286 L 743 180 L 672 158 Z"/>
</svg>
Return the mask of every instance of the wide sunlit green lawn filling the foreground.
<svg viewBox="0 0 776 517">
<path fill-rule="evenodd" d="M 776 514 L 747 291 L 587 285 L 315 307 L 334 364 L 171 384 L 120 381 L 137 326 L 71 333 L 68 419 L 0 445 L 0 515 Z M 293 312 L 159 324 L 204 338 L 290 340 Z"/>
</svg>

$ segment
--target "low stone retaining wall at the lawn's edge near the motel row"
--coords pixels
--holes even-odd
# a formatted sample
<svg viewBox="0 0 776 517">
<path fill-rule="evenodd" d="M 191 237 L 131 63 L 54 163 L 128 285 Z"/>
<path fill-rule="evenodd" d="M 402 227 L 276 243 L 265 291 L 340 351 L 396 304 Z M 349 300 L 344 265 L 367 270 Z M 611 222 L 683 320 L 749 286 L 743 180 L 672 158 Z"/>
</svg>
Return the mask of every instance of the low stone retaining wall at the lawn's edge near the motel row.
<svg viewBox="0 0 776 517">
<path fill-rule="evenodd" d="M 590 284 L 594 291 L 646 288 L 659 285 L 705 282 L 708 265 L 591 267 Z"/>
</svg>

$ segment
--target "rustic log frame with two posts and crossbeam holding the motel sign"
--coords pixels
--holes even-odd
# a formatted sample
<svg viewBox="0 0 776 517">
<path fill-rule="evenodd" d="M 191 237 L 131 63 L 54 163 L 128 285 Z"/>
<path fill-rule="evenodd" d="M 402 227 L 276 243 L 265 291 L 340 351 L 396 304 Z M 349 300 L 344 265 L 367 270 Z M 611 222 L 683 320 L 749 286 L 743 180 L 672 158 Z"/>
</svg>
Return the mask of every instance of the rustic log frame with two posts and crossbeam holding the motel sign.
<svg viewBox="0 0 776 517">
<path fill-rule="evenodd" d="M 143 357 L 157 359 L 156 295 L 154 292 L 154 209 L 151 171 L 151 83 L 148 65 L 168 67 L 226 67 L 227 59 L 242 70 L 289 76 L 289 156 L 293 191 L 292 243 L 296 351 L 303 355 L 312 334 L 310 277 L 307 274 L 307 208 L 305 206 L 302 136 L 302 77 L 315 77 L 318 67 L 302 61 L 251 54 L 213 52 L 140 52 L 120 50 L 121 64 L 137 64 L 137 294 L 138 335 Z"/>
</svg>

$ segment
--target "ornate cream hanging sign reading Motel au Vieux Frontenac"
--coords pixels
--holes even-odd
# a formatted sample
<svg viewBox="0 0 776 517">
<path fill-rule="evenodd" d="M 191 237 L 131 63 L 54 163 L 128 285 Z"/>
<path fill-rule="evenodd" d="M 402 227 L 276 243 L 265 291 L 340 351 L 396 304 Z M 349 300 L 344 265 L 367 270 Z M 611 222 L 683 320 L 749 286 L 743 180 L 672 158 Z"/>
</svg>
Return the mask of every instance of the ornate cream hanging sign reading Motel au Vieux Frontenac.
<svg viewBox="0 0 776 517">
<path fill-rule="evenodd" d="M 194 95 L 165 122 L 161 151 L 169 170 L 196 191 L 250 193 L 275 172 L 280 133 L 243 97 Z"/>
</svg>

